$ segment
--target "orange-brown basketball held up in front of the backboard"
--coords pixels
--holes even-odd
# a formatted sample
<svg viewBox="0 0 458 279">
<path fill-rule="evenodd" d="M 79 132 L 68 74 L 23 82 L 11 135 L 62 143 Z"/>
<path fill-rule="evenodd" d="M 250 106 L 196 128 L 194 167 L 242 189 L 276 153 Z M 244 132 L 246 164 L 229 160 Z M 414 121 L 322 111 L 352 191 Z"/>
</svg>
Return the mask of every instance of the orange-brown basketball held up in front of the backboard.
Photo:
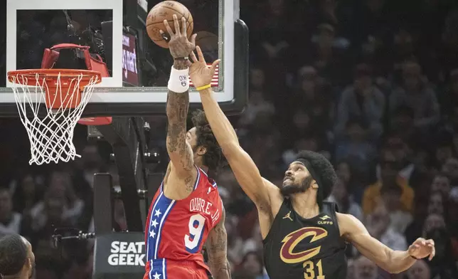
<svg viewBox="0 0 458 279">
<path fill-rule="evenodd" d="M 156 6 L 149 11 L 148 17 L 147 17 L 147 32 L 149 38 L 151 38 L 156 45 L 161 46 L 163 48 L 169 48 L 169 43 L 167 43 L 164 38 L 162 38 L 161 33 L 159 33 L 159 30 L 164 31 L 164 33 L 167 33 L 166 27 L 164 26 L 164 20 L 169 21 L 169 26 L 172 31 L 175 32 L 175 25 L 174 25 L 174 14 L 179 19 L 179 22 L 181 23 L 181 18 L 184 16 L 186 19 L 186 33 L 188 35 L 188 38 L 191 37 L 191 34 L 193 33 L 193 27 L 194 27 L 194 22 L 193 22 L 193 16 L 189 12 L 188 8 L 184 6 L 183 4 L 177 2 L 177 1 L 162 1 L 161 3 L 157 4 Z"/>
</svg>

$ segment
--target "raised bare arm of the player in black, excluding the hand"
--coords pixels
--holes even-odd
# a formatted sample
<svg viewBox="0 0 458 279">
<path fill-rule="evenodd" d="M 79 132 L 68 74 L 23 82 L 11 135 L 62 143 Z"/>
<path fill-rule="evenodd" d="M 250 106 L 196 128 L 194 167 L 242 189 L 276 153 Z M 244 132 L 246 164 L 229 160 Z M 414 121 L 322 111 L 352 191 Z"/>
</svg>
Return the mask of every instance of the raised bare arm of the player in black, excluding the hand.
<svg viewBox="0 0 458 279">
<path fill-rule="evenodd" d="M 199 93 L 211 130 L 223 149 L 223 154 L 235 178 L 257 208 L 270 214 L 270 196 L 268 194 L 270 187 L 265 185 L 250 155 L 240 147 L 235 130 L 215 100 L 211 88 L 201 90 Z"/>
</svg>

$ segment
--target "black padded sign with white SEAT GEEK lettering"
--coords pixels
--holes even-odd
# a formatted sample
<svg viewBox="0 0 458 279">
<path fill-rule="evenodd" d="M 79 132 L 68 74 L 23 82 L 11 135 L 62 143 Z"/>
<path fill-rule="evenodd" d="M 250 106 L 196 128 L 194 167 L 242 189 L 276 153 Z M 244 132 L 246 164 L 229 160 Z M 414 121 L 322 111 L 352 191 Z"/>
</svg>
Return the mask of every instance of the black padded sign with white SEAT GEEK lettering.
<svg viewBox="0 0 458 279">
<path fill-rule="evenodd" d="M 142 278 L 144 265 L 144 233 L 110 233 L 95 239 L 93 278 Z"/>
</svg>

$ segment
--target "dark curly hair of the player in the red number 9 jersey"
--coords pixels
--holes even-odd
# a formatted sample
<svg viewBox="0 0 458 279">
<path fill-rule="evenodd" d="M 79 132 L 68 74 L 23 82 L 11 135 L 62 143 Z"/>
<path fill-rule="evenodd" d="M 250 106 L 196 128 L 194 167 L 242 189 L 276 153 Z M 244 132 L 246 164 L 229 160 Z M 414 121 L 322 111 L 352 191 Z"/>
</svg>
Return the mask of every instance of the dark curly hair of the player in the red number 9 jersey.
<svg viewBox="0 0 458 279">
<path fill-rule="evenodd" d="M 215 172 L 223 162 L 223 152 L 216 141 L 215 135 L 211 130 L 207 117 L 203 110 L 196 110 L 191 117 L 194 127 L 196 127 L 197 146 L 206 147 L 207 152 L 203 155 L 203 164 L 211 171 Z"/>
</svg>

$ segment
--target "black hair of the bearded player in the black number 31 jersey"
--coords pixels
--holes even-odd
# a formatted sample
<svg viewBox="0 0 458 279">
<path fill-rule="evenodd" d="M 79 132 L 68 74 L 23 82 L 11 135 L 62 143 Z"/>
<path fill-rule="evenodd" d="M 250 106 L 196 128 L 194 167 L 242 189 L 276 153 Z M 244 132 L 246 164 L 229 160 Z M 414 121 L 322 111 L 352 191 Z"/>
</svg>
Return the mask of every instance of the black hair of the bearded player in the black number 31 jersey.
<svg viewBox="0 0 458 279">
<path fill-rule="evenodd" d="M 334 171 L 334 167 L 326 157 L 317 152 L 303 150 L 297 154 L 297 159 L 302 159 L 309 162 L 312 170 L 309 172 L 314 176 L 316 183 L 318 184 L 318 194 L 316 201 L 320 208 L 324 199 L 326 199 L 332 191 L 332 187 L 337 182 L 337 174 Z M 316 177 L 315 177 L 316 176 Z"/>
</svg>

